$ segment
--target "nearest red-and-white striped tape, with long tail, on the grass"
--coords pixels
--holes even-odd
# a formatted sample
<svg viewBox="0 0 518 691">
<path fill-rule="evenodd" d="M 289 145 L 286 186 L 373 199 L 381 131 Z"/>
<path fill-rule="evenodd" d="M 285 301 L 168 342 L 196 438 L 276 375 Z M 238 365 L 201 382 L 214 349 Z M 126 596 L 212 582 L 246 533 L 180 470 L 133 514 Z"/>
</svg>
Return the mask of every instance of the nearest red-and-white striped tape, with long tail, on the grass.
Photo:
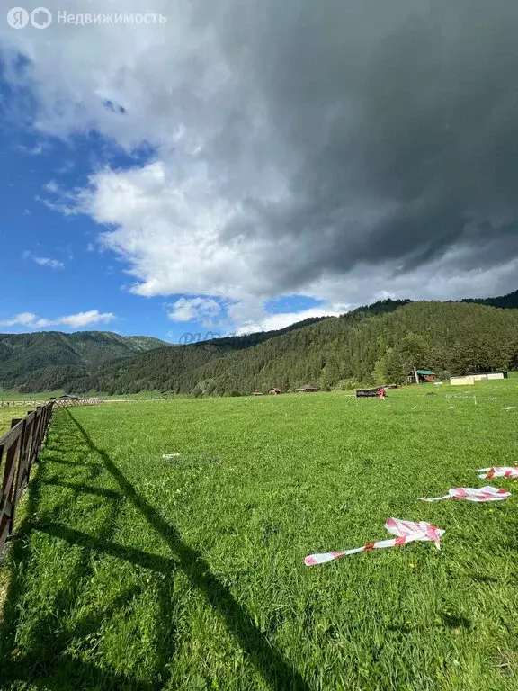
<svg viewBox="0 0 518 691">
<path fill-rule="evenodd" d="M 398 547 L 400 544 L 414 543 L 415 541 L 427 542 L 433 541 L 438 550 L 441 549 L 441 537 L 444 531 L 437 528 L 435 525 L 419 521 L 403 521 L 399 518 L 388 518 L 385 524 L 389 533 L 397 535 L 393 540 L 382 540 L 380 543 L 369 543 L 363 547 L 356 547 L 353 550 L 345 550 L 344 552 L 325 552 L 323 554 L 309 554 L 304 560 L 306 566 L 316 566 L 317 564 L 325 564 L 326 561 L 333 561 L 340 559 L 348 554 L 356 554 L 357 552 L 367 552 L 369 550 L 382 550 L 385 547 Z"/>
</svg>

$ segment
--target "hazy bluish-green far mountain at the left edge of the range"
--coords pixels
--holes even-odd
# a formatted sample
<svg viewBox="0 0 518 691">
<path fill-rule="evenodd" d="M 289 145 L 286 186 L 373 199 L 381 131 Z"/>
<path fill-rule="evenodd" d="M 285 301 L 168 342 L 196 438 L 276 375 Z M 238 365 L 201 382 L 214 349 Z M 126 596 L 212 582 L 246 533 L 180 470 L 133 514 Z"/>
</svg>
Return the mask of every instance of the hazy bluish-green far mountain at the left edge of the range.
<svg viewBox="0 0 518 691">
<path fill-rule="evenodd" d="M 48 370 L 67 368 L 67 372 L 74 372 L 81 365 L 93 366 L 165 345 L 158 338 L 103 331 L 0 334 L 0 386 L 22 384 L 34 375 L 37 382 Z"/>
</svg>

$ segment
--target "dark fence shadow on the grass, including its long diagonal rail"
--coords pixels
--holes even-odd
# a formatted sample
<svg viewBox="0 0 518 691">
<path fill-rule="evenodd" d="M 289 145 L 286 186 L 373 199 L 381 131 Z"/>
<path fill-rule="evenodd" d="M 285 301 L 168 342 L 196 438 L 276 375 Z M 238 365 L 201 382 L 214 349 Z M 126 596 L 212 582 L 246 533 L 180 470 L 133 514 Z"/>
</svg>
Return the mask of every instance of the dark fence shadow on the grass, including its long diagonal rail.
<svg viewBox="0 0 518 691">
<path fill-rule="evenodd" d="M 67 410 L 66 412 L 76 426 L 81 436 L 81 442 L 85 444 L 89 452 L 94 452 L 102 459 L 103 469 L 108 471 L 112 478 L 116 480 L 121 492 L 97 489 L 86 484 L 64 482 L 53 478 L 47 479 L 44 476 L 40 477 L 39 473 L 38 477 L 31 482 L 27 518 L 20 528 L 20 533 L 24 536 L 24 539 L 13 543 L 13 563 L 26 564 L 31 558 L 28 534 L 31 530 L 36 529 L 42 533 L 65 540 L 67 543 L 84 548 L 84 560 L 77 567 L 78 578 L 84 575 L 85 561 L 87 561 L 88 554 L 91 552 L 107 554 L 121 561 L 129 561 L 132 564 L 165 575 L 172 574 L 174 570 L 180 568 L 190 580 L 192 587 L 200 590 L 208 604 L 219 614 L 227 625 L 229 632 L 237 639 L 240 647 L 246 651 L 255 669 L 270 687 L 286 691 L 290 689 L 293 691 L 309 691 L 310 687 L 305 679 L 301 677 L 296 669 L 293 669 L 288 660 L 284 659 L 281 651 L 278 651 L 266 639 L 243 606 L 237 603 L 229 588 L 211 573 L 209 563 L 203 559 L 201 553 L 183 542 L 174 526 L 169 525 L 156 511 L 156 508 L 152 507 L 145 498 L 138 494 L 138 491 L 126 479 L 121 470 L 112 462 L 110 456 L 94 444 L 83 426 L 76 421 L 76 418 L 70 411 Z M 56 447 L 54 449 L 57 450 Z M 147 524 L 156 531 L 156 534 L 159 534 L 164 539 L 174 556 L 170 558 L 163 557 L 113 542 L 111 538 L 116 513 L 112 513 L 109 525 L 103 529 L 102 534 L 97 536 L 62 525 L 51 520 L 52 516 L 46 516 L 38 524 L 31 523 L 31 516 L 34 515 L 37 508 L 42 486 L 52 484 L 73 489 L 76 493 L 85 492 L 106 499 L 115 499 L 113 502 L 114 507 L 118 507 L 122 500 L 128 501 L 138 509 L 141 516 L 144 516 Z M 22 568 L 16 570 L 4 606 L 5 633 L 3 636 L 4 644 L 2 645 L 4 651 L 15 645 L 16 625 L 20 616 L 20 604 L 23 596 L 23 577 L 20 575 L 23 571 L 24 569 Z M 79 571 L 82 572 L 79 573 Z M 15 666 L 13 661 L 11 661 L 4 668 L 6 672 L 6 675 L 3 675 L 4 680 L 10 682 L 30 681 L 36 687 L 41 686 L 55 689 L 56 691 L 66 688 L 147 689 L 163 687 L 163 681 L 160 684 L 156 682 L 138 683 L 134 680 L 112 674 L 111 670 L 99 669 L 92 664 L 67 656 L 66 647 L 71 636 L 85 637 L 89 633 L 94 633 L 107 615 L 114 612 L 117 607 L 124 606 L 131 597 L 136 595 L 138 595 L 138 592 L 129 588 L 128 591 L 123 592 L 121 596 L 113 600 L 107 612 L 103 611 L 99 615 L 86 617 L 85 620 L 76 625 L 74 632 L 58 633 L 58 640 L 54 641 L 52 645 L 53 651 L 50 659 L 45 656 L 47 659 L 41 660 L 38 654 L 29 654 L 23 660 L 17 660 Z M 159 594 L 158 600 L 163 619 L 171 621 L 172 603 L 165 590 Z M 71 609 L 72 605 L 73 603 L 68 603 L 68 610 Z M 49 622 L 48 624 L 50 626 L 52 623 Z M 167 665 L 170 664 L 170 660 L 174 655 L 172 647 L 171 642 L 169 642 L 168 650 L 161 651 L 163 674 L 160 676 L 162 680 L 164 680 L 163 675 L 166 675 Z M 3 660 L 0 660 L 0 664 L 2 662 Z M 88 680 L 88 686 L 85 686 L 86 680 Z"/>
</svg>

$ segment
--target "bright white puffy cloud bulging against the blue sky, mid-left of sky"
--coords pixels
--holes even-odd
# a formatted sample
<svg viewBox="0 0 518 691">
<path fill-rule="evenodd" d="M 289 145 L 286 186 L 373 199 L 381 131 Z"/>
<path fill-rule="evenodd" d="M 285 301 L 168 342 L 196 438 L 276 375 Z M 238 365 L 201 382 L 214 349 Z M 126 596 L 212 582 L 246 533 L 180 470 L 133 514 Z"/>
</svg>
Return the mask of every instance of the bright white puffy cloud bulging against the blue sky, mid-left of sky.
<svg viewBox="0 0 518 691">
<path fill-rule="evenodd" d="M 261 239 L 223 235 L 237 209 L 219 199 L 205 166 L 189 172 L 156 162 L 92 176 L 79 208 L 105 226 L 104 247 L 123 256 L 138 277 L 132 292 L 147 297 L 174 293 L 239 299 L 263 295 L 267 282 Z M 267 289 L 266 289 L 267 290 Z"/>
</svg>

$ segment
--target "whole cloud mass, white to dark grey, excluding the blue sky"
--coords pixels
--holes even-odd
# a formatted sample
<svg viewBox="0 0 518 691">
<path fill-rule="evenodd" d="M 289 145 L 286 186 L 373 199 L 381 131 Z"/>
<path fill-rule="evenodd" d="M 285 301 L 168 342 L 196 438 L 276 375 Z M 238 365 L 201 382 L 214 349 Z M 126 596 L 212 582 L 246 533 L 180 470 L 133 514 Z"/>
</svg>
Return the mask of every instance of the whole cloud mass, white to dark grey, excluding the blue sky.
<svg viewBox="0 0 518 691">
<path fill-rule="evenodd" d="M 78 195 L 132 290 L 248 309 L 515 287 L 516 0 L 149 4 L 160 31 L 8 34 L 44 131 L 154 147 Z"/>
</svg>

